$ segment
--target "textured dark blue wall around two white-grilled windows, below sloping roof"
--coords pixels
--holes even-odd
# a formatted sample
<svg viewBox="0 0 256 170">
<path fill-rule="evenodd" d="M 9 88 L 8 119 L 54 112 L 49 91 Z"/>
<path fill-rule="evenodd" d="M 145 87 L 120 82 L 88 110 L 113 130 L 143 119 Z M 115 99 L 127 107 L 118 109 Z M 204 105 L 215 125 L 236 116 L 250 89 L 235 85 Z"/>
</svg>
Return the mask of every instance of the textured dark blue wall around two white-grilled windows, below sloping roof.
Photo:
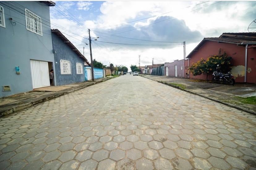
<svg viewBox="0 0 256 170">
<path fill-rule="evenodd" d="M 57 85 L 66 85 L 84 81 L 84 67 L 82 67 L 83 74 L 76 74 L 76 63 L 84 65 L 84 60 L 77 56 L 77 54 L 66 44 L 63 43 L 56 34 L 52 33 L 53 49 L 55 59 L 54 77 Z M 71 74 L 61 74 L 60 60 L 70 61 Z"/>
</svg>

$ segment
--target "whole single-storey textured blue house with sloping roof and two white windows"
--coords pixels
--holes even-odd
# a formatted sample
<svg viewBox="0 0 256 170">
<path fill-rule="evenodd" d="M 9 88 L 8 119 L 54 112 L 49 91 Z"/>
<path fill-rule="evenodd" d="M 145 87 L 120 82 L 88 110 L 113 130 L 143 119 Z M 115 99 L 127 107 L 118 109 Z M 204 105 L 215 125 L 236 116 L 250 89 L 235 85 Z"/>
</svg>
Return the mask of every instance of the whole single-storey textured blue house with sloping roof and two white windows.
<svg viewBox="0 0 256 170">
<path fill-rule="evenodd" d="M 87 59 L 58 29 L 52 30 L 52 40 L 56 85 L 85 81 L 84 63 L 89 65 Z"/>
</svg>

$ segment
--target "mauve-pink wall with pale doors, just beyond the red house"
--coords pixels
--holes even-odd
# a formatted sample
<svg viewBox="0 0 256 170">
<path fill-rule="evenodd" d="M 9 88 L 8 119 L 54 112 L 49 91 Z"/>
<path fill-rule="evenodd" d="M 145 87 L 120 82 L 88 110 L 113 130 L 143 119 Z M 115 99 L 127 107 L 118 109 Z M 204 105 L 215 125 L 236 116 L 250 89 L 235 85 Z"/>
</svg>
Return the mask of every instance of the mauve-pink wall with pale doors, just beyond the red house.
<svg viewBox="0 0 256 170">
<path fill-rule="evenodd" d="M 175 60 L 172 63 L 165 63 L 164 67 L 168 67 L 168 76 L 175 77 L 175 65 L 177 65 L 177 77 L 184 77 L 184 60 Z M 166 76 L 166 72 L 164 72 L 164 75 Z"/>
</svg>

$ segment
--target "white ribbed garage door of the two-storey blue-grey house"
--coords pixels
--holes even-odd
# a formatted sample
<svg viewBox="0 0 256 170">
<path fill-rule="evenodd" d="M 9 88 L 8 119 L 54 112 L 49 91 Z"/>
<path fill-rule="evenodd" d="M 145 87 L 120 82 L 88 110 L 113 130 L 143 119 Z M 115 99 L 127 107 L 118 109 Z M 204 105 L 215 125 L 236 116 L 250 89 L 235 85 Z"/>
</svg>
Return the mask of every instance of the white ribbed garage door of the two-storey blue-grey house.
<svg viewBox="0 0 256 170">
<path fill-rule="evenodd" d="M 30 60 L 33 89 L 50 86 L 48 62 Z"/>
</svg>

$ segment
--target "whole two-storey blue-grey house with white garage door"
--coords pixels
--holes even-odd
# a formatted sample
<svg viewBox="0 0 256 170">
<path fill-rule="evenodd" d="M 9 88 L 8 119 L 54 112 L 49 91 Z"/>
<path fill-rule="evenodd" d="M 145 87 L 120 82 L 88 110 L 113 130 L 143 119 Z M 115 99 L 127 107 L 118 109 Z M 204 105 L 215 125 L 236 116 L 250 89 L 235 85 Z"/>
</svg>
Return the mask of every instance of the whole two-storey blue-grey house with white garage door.
<svg viewBox="0 0 256 170">
<path fill-rule="evenodd" d="M 0 2 L 0 97 L 50 85 L 52 1 Z M 56 84 L 56 80 L 54 80 Z"/>
</svg>

